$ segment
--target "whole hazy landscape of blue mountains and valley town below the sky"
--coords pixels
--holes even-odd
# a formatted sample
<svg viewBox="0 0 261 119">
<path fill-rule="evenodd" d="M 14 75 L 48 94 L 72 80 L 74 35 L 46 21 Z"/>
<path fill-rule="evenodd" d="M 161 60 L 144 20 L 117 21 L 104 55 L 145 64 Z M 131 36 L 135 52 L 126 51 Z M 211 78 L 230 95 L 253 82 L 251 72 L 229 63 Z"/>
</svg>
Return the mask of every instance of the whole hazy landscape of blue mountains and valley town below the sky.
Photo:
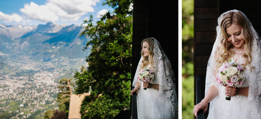
<svg viewBox="0 0 261 119">
<path fill-rule="evenodd" d="M 59 80 L 88 67 L 84 59 L 90 50 L 82 49 L 89 39 L 79 37 L 83 30 L 53 23 L 0 24 L 0 118 L 15 117 L 17 111 L 22 117 L 29 110 L 29 118 L 36 118 L 58 108 Z"/>
</svg>

